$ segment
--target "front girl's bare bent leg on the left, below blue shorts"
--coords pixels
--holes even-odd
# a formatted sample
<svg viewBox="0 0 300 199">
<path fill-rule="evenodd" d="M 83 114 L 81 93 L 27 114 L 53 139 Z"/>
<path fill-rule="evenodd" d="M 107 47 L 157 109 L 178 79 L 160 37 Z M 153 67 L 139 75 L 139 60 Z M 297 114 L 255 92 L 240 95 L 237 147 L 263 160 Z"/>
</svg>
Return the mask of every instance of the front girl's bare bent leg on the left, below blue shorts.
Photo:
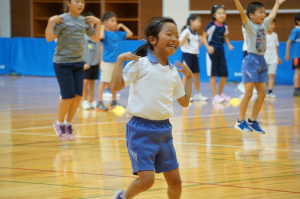
<svg viewBox="0 0 300 199">
<path fill-rule="evenodd" d="M 132 181 L 125 191 L 126 199 L 131 199 L 139 193 L 147 191 L 154 184 L 154 171 L 140 171 L 137 173 L 139 178 Z"/>
</svg>

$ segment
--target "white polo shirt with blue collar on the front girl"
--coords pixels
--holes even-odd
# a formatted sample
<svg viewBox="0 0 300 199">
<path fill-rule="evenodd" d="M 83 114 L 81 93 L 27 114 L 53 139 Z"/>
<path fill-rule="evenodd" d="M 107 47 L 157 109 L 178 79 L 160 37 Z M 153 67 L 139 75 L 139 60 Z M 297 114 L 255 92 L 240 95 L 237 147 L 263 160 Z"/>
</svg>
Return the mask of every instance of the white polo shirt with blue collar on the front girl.
<svg viewBox="0 0 300 199">
<path fill-rule="evenodd" d="M 166 120 L 173 116 L 173 98 L 185 95 L 175 66 L 162 66 L 150 54 L 131 61 L 123 69 L 125 86 L 130 85 L 126 116 Z"/>
</svg>

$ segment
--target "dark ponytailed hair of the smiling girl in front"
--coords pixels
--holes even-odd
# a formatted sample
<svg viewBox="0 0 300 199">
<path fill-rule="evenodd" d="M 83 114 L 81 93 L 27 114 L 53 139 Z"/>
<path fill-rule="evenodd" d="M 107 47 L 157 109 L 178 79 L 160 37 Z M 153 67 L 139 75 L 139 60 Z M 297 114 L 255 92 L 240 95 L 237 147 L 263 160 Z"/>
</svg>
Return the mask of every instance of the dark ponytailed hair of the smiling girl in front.
<svg viewBox="0 0 300 199">
<path fill-rule="evenodd" d="M 156 16 L 148 21 L 148 25 L 144 30 L 147 43 L 136 49 L 133 52 L 135 55 L 145 57 L 149 49 L 153 50 L 153 46 L 149 42 L 149 37 L 155 37 L 158 40 L 158 34 L 164 23 L 173 23 L 176 25 L 175 21 L 170 17 Z"/>
</svg>

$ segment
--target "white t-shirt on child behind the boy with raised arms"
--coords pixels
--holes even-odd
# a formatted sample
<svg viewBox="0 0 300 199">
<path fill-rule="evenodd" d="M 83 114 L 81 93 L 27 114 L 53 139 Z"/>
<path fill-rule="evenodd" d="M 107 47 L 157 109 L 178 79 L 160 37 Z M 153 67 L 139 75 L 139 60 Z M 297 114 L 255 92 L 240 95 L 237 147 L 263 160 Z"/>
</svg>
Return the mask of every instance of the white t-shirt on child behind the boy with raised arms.
<svg viewBox="0 0 300 199">
<path fill-rule="evenodd" d="M 278 35 L 275 32 L 267 34 L 267 50 L 265 60 L 267 64 L 278 64 L 276 47 L 279 46 Z"/>
</svg>

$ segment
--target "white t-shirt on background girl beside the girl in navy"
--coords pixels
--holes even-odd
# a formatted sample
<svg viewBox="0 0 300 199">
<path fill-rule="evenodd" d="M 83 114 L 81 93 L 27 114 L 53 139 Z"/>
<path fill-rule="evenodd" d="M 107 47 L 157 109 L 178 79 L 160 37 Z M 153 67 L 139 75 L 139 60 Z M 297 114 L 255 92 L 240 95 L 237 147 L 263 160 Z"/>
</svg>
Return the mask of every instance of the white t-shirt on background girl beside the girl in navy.
<svg viewBox="0 0 300 199">
<path fill-rule="evenodd" d="M 184 53 L 198 55 L 200 40 L 199 34 L 197 32 L 193 33 L 190 28 L 186 28 L 181 32 L 179 41 L 181 42 L 187 33 L 189 34 L 188 39 L 186 40 L 184 45 L 180 47 L 180 49 Z"/>
</svg>

